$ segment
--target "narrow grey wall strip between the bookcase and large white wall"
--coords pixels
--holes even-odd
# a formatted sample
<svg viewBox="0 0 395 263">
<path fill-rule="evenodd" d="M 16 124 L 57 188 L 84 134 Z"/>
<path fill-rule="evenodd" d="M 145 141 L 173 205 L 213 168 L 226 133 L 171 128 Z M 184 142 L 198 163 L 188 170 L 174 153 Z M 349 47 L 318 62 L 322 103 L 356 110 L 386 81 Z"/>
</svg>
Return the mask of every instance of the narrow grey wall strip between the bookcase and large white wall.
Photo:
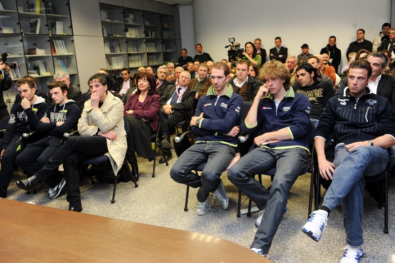
<svg viewBox="0 0 395 263">
<path fill-rule="evenodd" d="M 188 55 L 194 57 L 195 50 L 195 34 L 194 34 L 194 13 L 192 5 L 180 6 L 180 26 L 182 48 L 188 50 Z M 177 50 L 181 53 L 181 50 Z"/>
</svg>

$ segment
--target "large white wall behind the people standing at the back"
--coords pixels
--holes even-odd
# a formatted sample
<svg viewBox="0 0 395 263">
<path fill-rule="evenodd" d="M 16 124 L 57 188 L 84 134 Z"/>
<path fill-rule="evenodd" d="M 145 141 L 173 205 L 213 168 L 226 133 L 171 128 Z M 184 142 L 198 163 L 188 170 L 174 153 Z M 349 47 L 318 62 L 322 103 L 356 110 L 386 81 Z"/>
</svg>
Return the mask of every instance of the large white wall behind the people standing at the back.
<svg viewBox="0 0 395 263">
<path fill-rule="evenodd" d="M 309 44 L 310 53 L 319 53 L 334 35 L 346 63 L 357 29 L 363 28 L 372 41 L 382 24 L 390 22 L 391 0 L 195 0 L 193 13 L 195 41 L 215 61 L 227 58 L 224 46 L 231 37 L 242 46 L 261 38 L 269 59 L 277 36 L 289 55 L 298 55 L 303 43 Z"/>
</svg>

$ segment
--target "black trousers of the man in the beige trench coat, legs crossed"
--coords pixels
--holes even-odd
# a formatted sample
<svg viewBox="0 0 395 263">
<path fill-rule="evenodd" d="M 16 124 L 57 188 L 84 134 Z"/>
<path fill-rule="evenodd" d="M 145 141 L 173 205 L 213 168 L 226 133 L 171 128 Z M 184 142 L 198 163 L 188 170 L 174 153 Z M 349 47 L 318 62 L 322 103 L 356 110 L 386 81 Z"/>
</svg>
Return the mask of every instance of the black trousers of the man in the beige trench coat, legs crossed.
<svg viewBox="0 0 395 263">
<path fill-rule="evenodd" d="M 81 206 L 81 193 L 79 191 L 79 163 L 83 160 L 97 157 L 108 152 L 107 139 L 102 136 L 72 136 L 49 159 L 48 163 L 36 173 L 43 182 L 58 166 L 63 163 L 64 177 L 67 186 L 67 201 L 70 206 Z"/>
</svg>

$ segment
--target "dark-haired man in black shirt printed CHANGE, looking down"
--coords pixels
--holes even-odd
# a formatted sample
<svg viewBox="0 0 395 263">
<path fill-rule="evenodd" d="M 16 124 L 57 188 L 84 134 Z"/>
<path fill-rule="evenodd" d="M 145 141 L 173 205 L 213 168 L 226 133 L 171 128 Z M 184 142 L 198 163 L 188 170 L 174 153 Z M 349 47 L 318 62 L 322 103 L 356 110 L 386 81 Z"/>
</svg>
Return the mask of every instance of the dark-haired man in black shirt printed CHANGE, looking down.
<svg viewBox="0 0 395 263">
<path fill-rule="evenodd" d="M 328 81 L 317 80 L 316 72 L 316 69 L 307 63 L 299 65 L 296 69 L 299 83 L 292 85 L 296 92 L 305 94 L 309 98 L 312 105 L 310 120 L 315 126 L 318 125 L 326 103 L 335 95 L 335 90 Z"/>
</svg>

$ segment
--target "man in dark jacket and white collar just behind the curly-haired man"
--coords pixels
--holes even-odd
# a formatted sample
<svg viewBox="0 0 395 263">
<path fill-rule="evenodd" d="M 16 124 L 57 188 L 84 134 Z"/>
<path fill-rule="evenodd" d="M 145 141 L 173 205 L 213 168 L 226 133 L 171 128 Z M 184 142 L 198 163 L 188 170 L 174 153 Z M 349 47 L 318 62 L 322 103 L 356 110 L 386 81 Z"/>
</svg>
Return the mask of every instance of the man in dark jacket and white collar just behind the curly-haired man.
<svg viewBox="0 0 395 263">
<path fill-rule="evenodd" d="M 248 62 L 240 60 L 236 66 L 236 76 L 232 77 L 228 84 L 231 84 L 233 91 L 239 94 L 243 101 L 252 102 L 262 82 L 249 76 Z"/>
</svg>

